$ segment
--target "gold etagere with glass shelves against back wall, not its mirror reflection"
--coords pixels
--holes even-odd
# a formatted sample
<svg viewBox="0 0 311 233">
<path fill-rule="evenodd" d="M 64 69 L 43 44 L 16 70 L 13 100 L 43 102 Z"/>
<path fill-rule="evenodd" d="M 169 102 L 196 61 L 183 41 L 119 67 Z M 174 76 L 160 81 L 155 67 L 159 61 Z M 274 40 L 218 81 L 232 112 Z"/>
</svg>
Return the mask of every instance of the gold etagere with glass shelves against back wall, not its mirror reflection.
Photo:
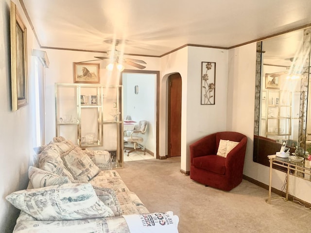
<svg viewBox="0 0 311 233">
<path fill-rule="evenodd" d="M 121 95 L 121 85 L 55 83 L 56 136 L 82 149 L 108 150 L 121 167 Z"/>
</svg>

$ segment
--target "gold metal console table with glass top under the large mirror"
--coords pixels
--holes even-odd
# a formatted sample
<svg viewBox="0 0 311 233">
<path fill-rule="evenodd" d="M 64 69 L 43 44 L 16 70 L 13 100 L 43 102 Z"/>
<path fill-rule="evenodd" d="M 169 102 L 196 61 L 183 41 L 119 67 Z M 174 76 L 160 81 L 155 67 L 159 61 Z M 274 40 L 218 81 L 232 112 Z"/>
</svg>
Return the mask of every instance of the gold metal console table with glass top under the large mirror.
<svg viewBox="0 0 311 233">
<path fill-rule="evenodd" d="M 291 161 L 289 158 L 281 158 L 274 155 L 268 155 L 270 161 L 270 174 L 269 174 L 269 196 L 266 199 L 266 202 L 271 204 L 271 200 L 276 198 L 282 198 L 284 200 L 288 200 L 288 187 L 289 187 L 289 175 L 297 176 L 302 179 L 311 181 L 311 167 L 310 161 L 304 159 L 301 162 Z M 272 168 L 273 165 L 284 167 L 287 170 L 286 175 L 286 194 L 284 197 L 274 197 L 271 198 L 271 189 L 272 189 Z"/>
</svg>

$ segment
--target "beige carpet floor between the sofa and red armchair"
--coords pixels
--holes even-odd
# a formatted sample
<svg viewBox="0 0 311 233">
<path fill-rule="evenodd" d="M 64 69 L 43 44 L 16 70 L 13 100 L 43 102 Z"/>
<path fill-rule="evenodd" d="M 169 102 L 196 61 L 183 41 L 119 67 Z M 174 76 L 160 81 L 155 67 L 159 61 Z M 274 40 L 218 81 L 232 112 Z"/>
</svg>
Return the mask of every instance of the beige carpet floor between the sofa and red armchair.
<svg viewBox="0 0 311 233">
<path fill-rule="evenodd" d="M 124 162 L 118 172 L 151 213 L 178 215 L 179 233 L 311 232 L 311 210 L 299 204 L 269 205 L 268 191 L 245 180 L 230 192 L 205 187 L 179 169 L 180 157 L 173 157 Z"/>
</svg>

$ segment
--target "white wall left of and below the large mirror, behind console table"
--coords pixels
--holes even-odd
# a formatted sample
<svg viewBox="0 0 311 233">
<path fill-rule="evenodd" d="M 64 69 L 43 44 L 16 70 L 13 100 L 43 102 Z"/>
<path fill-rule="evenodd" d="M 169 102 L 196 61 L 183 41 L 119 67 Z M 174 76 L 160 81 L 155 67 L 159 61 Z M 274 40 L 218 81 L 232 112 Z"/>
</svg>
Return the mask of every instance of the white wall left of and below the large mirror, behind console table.
<svg viewBox="0 0 311 233">
<path fill-rule="evenodd" d="M 229 50 L 227 130 L 248 137 L 243 174 L 269 184 L 269 167 L 253 162 L 256 43 Z M 273 169 L 272 186 L 281 190 L 286 173 Z M 289 193 L 311 202 L 311 182 L 290 176 Z M 268 196 L 268 192 L 267 192 Z"/>
</svg>

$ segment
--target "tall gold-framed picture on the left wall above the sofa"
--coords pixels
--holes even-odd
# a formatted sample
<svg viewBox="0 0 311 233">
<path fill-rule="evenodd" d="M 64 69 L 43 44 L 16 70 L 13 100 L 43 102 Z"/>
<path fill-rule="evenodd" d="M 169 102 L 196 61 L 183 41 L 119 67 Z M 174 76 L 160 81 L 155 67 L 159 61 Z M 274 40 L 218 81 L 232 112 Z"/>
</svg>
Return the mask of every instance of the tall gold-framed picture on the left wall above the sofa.
<svg viewBox="0 0 311 233">
<path fill-rule="evenodd" d="M 11 89 L 12 111 L 28 104 L 27 28 L 11 1 Z"/>
</svg>

